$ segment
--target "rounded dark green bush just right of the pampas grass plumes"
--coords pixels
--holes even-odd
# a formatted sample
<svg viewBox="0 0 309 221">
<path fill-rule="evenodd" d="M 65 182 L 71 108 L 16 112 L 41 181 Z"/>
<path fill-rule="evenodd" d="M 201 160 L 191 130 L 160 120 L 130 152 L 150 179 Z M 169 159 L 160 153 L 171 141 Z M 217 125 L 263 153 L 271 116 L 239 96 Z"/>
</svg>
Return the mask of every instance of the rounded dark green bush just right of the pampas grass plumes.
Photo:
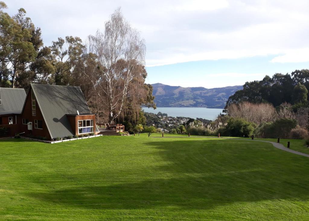
<svg viewBox="0 0 309 221">
<path fill-rule="evenodd" d="M 252 122 L 248 122 L 241 118 L 230 118 L 227 121 L 225 136 L 250 137 L 253 135 L 255 128 L 256 124 Z"/>
</svg>

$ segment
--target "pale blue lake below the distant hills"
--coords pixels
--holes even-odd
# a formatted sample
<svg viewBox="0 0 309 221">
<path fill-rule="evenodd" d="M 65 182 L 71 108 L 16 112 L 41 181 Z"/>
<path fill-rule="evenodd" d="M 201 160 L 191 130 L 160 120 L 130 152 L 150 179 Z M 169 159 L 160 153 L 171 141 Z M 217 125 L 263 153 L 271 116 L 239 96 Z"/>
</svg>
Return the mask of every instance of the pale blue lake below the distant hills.
<svg viewBox="0 0 309 221">
<path fill-rule="evenodd" d="M 214 120 L 219 113 L 222 113 L 222 109 L 215 108 L 147 108 L 143 107 L 143 110 L 148 113 L 167 113 L 169 117 L 191 117 L 191 118 L 204 118 L 206 120 Z"/>
</svg>

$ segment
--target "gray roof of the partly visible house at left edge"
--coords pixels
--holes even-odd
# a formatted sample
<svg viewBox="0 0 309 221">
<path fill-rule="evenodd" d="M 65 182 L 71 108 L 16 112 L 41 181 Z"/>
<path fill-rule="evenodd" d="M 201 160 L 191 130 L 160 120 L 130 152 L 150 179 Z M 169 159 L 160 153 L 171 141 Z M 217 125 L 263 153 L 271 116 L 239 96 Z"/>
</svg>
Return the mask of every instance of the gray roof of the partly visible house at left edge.
<svg viewBox="0 0 309 221">
<path fill-rule="evenodd" d="M 19 114 L 23 110 L 26 92 L 23 88 L 0 88 L 0 114 Z"/>
</svg>

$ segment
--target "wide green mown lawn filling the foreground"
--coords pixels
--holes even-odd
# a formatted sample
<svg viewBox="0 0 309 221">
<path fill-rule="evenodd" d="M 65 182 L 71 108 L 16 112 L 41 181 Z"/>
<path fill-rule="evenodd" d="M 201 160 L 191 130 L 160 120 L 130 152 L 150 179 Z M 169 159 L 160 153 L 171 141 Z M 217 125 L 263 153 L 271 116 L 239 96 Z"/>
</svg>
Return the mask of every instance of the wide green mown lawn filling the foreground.
<svg viewBox="0 0 309 221">
<path fill-rule="evenodd" d="M 0 141 L 0 220 L 309 220 L 308 158 L 159 136 Z"/>
</svg>

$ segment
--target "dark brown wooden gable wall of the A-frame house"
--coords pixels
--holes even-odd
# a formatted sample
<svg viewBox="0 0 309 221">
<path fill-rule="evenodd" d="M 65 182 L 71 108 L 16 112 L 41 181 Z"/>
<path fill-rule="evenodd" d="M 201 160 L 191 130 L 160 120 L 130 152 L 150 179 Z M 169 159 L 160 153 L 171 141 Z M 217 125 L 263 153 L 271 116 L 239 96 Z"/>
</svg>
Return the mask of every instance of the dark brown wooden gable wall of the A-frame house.
<svg viewBox="0 0 309 221">
<path fill-rule="evenodd" d="M 21 117 L 19 119 L 20 122 L 18 122 L 18 124 L 20 124 L 21 129 L 23 130 L 22 132 L 25 132 L 26 135 L 41 136 L 46 137 L 47 139 L 51 139 L 37 101 L 36 101 L 36 116 L 32 116 L 31 90 L 32 89 L 30 88 L 28 91 L 26 97 L 26 103 L 23 108 L 23 113 L 21 114 Z M 32 122 L 32 131 L 28 130 L 28 125 L 23 125 L 22 119 L 27 119 L 29 122 Z M 34 128 L 34 120 L 43 121 L 43 129 Z"/>
</svg>

